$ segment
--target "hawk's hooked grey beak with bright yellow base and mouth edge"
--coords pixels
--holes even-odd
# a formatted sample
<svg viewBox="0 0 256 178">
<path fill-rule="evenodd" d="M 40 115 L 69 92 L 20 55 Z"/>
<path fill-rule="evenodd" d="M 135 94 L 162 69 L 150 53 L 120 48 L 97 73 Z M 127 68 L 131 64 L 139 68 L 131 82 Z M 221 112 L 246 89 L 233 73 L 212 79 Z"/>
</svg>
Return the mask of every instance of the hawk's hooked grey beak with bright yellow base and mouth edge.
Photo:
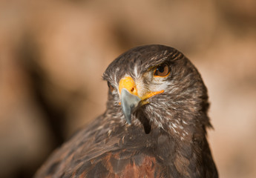
<svg viewBox="0 0 256 178">
<path fill-rule="evenodd" d="M 150 91 L 145 93 L 143 96 L 139 96 L 135 82 L 131 76 L 125 76 L 122 78 L 119 82 L 119 93 L 121 94 L 122 113 L 125 115 L 126 122 L 128 122 L 129 125 L 131 124 L 131 114 L 134 113 L 140 102 L 143 102 L 145 99 L 163 92 L 164 90 L 155 92 Z M 142 103 L 142 105 L 146 103 L 147 102 Z"/>
</svg>

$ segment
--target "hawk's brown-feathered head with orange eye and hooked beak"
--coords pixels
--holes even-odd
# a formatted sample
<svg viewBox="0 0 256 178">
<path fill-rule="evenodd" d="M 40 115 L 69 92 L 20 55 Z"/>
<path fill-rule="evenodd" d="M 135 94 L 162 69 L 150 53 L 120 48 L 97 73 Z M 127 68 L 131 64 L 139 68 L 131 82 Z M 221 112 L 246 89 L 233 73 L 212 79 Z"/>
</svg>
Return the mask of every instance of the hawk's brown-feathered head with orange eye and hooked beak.
<svg viewBox="0 0 256 178">
<path fill-rule="evenodd" d="M 179 51 L 163 45 L 135 47 L 112 62 L 103 74 L 108 81 L 108 113 L 174 133 L 184 125 L 210 126 L 208 95 L 200 73 Z M 198 125 L 197 125 L 198 126 Z M 191 128 L 194 129 L 194 128 Z"/>
</svg>

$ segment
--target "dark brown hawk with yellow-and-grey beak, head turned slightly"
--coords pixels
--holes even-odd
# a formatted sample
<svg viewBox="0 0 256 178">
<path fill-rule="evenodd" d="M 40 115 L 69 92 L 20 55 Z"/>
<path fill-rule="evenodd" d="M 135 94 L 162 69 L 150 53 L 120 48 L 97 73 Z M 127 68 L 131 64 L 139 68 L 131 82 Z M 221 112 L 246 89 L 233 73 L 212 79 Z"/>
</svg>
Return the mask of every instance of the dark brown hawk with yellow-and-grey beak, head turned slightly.
<svg viewBox="0 0 256 178">
<path fill-rule="evenodd" d="M 105 113 L 35 177 L 218 177 L 206 139 L 206 86 L 172 47 L 135 47 L 105 70 Z"/>
</svg>

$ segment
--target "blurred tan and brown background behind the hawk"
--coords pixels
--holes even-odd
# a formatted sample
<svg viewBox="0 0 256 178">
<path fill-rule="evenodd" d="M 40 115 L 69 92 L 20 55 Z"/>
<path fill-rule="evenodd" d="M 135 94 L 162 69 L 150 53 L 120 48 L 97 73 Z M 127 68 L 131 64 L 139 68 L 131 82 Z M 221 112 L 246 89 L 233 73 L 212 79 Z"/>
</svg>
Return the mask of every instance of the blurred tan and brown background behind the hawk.
<svg viewBox="0 0 256 178">
<path fill-rule="evenodd" d="M 256 1 L 0 1 L 0 177 L 32 177 L 105 111 L 120 53 L 166 44 L 209 88 L 220 177 L 256 177 Z"/>
</svg>

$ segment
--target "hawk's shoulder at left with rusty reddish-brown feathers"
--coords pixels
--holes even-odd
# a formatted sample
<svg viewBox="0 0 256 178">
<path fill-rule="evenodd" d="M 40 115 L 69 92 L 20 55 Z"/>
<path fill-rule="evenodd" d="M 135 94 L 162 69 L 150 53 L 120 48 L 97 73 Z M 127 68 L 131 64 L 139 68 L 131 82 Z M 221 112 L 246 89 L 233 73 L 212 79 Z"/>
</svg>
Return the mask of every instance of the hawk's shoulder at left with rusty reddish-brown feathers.
<svg viewBox="0 0 256 178">
<path fill-rule="evenodd" d="M 157 170 L 164 165 L 154 153 L 154 136 L 145 135 L 143 128 L 100 124 L 102 119 L 56 149 L 36 177 L 160 177 Z"/>
</svg>

